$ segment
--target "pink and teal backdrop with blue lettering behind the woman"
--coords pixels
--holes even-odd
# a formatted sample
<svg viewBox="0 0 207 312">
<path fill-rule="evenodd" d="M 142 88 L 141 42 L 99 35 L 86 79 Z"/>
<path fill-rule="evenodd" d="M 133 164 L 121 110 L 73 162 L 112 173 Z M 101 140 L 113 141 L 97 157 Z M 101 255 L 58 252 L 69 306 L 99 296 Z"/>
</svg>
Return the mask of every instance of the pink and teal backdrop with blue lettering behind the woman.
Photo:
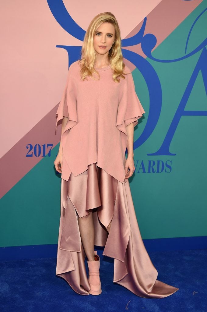
<svg viewBox="0 0 207 312">
<path fill-rule="evenodd" d="M 56 111 L 89 22 L 108 11 L 146 112 L 134 128 L 129 180 L 142 238 L 207 236 L 207 1 L 1 7 L 0 246 L 57 244 Z"/>
</svg>

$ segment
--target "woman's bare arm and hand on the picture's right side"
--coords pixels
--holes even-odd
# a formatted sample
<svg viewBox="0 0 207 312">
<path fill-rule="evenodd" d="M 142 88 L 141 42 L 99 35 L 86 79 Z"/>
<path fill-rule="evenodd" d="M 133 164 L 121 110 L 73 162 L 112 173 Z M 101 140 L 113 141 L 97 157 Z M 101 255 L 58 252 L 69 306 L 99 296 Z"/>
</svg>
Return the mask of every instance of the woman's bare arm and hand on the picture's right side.
<svg viewBox="0 0 207 312">
<path fill-rule="evenodd" d="M 134 152 L 133 152 L 133 145 L 134 145 L 134 123 L 128 124 L 126 126 L 126 131 L 128 135 L 128 141 L 127 141 L 127 159 L 125 162 L 125 179 L 128 179 L 132 176 L 134 173 L 135 167 L 134 167 Z M 128 171 L 129 168 L 129 171 Z"/>
</svg>

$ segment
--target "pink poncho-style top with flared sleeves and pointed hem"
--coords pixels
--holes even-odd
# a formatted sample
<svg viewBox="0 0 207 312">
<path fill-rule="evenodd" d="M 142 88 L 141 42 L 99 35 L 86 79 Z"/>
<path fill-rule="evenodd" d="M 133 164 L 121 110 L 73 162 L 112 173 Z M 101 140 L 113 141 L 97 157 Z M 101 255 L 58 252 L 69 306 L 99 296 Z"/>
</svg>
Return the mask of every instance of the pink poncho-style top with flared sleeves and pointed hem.
<svg viewBox="0 0 207 312">
<path fill-rule="evenodd" d="M 62 134 L 61 178 L 68 181 L 71 172 L 77 176 L 87 170 L 89 164 L 97 163 L 123 183 L 126 126 L 132 122 L 137 125 L 145 111 L 128 66 L 124 69 L 128 74 L 119 83 L 113 81 L 110 65 L 95 69 L 100 80 L 89 76 L 88 80 L 81 80 L 79 61 L 72 63 L 68 71 L 55 126 L 57 130 L 58 121 L 64 116 L 69 118 Z"/>
</svg>

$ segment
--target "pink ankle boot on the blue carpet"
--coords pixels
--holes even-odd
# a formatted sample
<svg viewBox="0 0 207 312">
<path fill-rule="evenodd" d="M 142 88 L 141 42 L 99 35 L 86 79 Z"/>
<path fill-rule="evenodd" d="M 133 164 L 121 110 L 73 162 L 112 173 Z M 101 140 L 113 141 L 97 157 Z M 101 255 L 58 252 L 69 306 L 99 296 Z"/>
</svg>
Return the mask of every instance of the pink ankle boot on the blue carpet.
<svg viewBox="0 0 207 312">
<path fill-rule="evenodd" d="M 100 257 L 97 255 L 97 251 L 94 251 L 95 261 L 88 261 L 89 267 L 89 284 L 90 290 L 89 293 L 91 295 L 100 295 L 101 290 L 101 281 L 99 277 L 99 268 L 100 268 Z"/>
</svg>

